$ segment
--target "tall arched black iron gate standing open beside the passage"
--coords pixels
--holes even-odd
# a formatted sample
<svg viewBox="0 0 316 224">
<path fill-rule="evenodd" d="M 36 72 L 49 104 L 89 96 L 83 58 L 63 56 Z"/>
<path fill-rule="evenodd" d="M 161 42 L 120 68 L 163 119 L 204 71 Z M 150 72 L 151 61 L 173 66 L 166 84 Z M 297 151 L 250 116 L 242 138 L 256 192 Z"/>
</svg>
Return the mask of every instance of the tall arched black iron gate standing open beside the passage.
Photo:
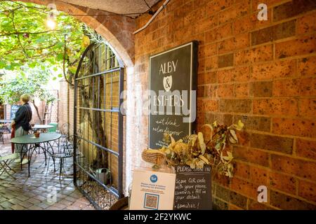
<svg viewBox="0 0 316 224">
<path fill-rule="evenodd" d="M 123 197 L 124 69 L 108 45 L 93 43 L 74 79 L 74 185 L 109 209 Z"/>
</svg>

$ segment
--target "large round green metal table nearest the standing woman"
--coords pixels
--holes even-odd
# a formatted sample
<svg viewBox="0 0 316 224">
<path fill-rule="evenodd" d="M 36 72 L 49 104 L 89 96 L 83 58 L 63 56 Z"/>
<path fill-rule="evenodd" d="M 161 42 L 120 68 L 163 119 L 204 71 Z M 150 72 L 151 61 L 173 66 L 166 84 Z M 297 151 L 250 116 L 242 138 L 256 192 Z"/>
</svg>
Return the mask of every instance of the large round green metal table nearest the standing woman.
<svg viewBox="0 0 316 224">
<path fill-rule="evenodd" d="M 29 166 L 31 165 L 32 155 L 34 151 L 37 148 L 39 148 L 39 150 L 42 149 L 44 151 L 45 165 L 46 165 L 46 152 L 49 153 L 48 151 L 49 148 L 51 148 L 51 151 L 53 152 L 53 146 L 51 146 L 50 141 L 58 140 L 60 139 L 60 137 L 62 137 L 62 135 L 59 133 L 41 133 L 39 135 L 39 138 L 36 138 L 34 134 L 27 134 L 22 137 L 16 137 L 16 138 L 11 139 L 11 143 L 22 145 L 22 150 L 20 152 L 20 159 L 22 160 L 24 155 L 27 154 L 27 159 L 29 160 L 28 162 L 28 171 L 29 171 Z M 41 144 L 43 144 L 44 147 L 41 146 Z M 22 161 L 21 161 L 21 169 L 22 169 Z"/>
</svg>

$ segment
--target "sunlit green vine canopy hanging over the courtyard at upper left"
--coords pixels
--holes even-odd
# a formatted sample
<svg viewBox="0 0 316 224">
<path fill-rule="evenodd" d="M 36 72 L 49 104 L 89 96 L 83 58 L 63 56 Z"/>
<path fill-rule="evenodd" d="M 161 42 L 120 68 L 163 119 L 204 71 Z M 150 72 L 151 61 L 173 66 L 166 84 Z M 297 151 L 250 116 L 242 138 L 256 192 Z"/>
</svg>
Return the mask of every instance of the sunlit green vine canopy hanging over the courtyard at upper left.
<svg viewBox="0 0 316 224">
<path fill-rule="evenodd" d="M 61 69 L 64 62 L 66 69 L 77 67 L 87 46 L 83 24 L 57 12 L 57 26 L 50 30 L 46 27 L 48 11 L 34 3 L 0 1 L 0 69 L 19 70 L 25 64 L 43 67 L 43 63 Z"/>
</svg>

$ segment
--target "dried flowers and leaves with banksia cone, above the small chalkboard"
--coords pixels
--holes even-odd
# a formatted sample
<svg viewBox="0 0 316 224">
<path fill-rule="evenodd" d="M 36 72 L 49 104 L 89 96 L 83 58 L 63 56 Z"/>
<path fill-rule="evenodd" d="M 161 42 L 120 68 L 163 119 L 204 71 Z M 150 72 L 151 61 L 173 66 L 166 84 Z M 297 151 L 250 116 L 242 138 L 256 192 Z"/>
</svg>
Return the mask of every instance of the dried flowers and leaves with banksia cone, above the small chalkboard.
<svg viewBox="0 0 316 224">
<path fill-rule="evenodd" d="M 236 131 L 244 127 L 242 121 L 237 125 L 204 125 L 211 129 L 211 136 L 204 141 L 202 132 L 192 134 L 175 141 L 169 134 L 164 134 L 164 141 L 168 147 L 159 150 L 147 149 L 143 152 L 143 160 L 155 163 L 154 167 L 167 165 L 188 165 L 192 169 L 203 168 L 210 165 L 216 173 L 232 177 L 232 144 L 238 142 Z"/>
</svg>

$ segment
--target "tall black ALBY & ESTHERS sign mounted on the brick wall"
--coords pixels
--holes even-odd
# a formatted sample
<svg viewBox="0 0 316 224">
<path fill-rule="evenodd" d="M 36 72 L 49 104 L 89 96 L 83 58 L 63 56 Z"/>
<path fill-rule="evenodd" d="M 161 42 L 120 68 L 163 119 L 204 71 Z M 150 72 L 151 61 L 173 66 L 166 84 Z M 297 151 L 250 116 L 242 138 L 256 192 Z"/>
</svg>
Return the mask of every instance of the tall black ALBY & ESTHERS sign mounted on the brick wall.
<svg viewBox="0 0 316 224">
<path fill-rule="evenodd" d="M 192 134 L 196 118 L 197 41 L 150 57 L 149 147 Z"/>
</svg>

